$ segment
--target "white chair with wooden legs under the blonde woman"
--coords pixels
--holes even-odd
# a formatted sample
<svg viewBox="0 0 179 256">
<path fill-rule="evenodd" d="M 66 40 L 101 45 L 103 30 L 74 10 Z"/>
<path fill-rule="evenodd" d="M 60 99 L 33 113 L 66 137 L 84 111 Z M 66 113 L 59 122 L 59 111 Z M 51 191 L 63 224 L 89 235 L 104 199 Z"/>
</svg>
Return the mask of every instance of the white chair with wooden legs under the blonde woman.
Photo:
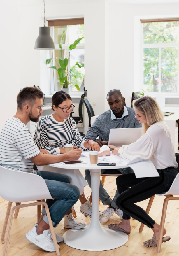
<svg viewBox="0 0 179 256">
<path fill-rule="evenodd" d="M 179 153 L 176 153 L 175 156 L 176 156 L 176 161 L 177 161 L 178 166 L 179 166 Z M 179 200 L 179 197 L 173 197 L 173 195 L 179 195 L 178 183 L 179 183 L 179 173 L 175 177 L 170 189 L 167 192 L 165 192 L 163 194 L 157 194 L 158 196 L 165 196 L 166 197 L 164 199 L 163 210 L 162 210 L 161 221 L 160 221 L 159 238 L 158 238 L 158 242 L 157 242 L 157 253 L 160 252 L 161 245 L 162 245 L 162 237 L 163 237 L 163 232 L 164 232 L 164 225 L 165 225 L 165 218 L 166 218 L 166 210 L 167 210 L 168 201 L 169 200 Z M 153 202 L 154 197 L 155 196 L 150 197 L 150 199 L 149 199 L 148 206 L 147 206 L 147 209 L 146 209 L 147 213 L 149 213 L 149 211 L 150 211 L 150 208 L 152 206 L 152 202 Z M 144 224 L 141 223 L 141 226 L 139 228 L 139 232 L 143 231 L 143 227 L 144 227 Z"/>
</svg>

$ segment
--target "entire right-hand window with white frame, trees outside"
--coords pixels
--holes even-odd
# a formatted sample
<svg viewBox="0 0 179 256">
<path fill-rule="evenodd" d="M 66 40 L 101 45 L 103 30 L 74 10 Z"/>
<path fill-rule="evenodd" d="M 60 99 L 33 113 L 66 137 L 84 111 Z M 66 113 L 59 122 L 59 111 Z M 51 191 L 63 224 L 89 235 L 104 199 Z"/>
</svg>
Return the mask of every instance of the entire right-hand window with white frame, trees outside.
<svg viewBox="0 0 179 256">
<path fill-rule="evenodd" d="M 143 90 L 179 93 L 179 19 L 141 20 Z"/>
</svg>

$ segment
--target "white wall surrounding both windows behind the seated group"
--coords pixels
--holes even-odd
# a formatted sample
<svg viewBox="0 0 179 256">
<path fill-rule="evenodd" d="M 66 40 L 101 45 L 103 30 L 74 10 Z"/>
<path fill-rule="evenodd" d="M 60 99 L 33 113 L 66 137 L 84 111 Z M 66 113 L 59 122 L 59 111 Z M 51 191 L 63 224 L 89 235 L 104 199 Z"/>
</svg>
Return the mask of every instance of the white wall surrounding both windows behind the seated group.
<svg viewBox="0 0 179 256">
<path fill-rule="evenodd" d="M 139 17 L 179 15 L 178 10 L 179 3 L 45 1 L 46 18 L 84 16 L 85 86 L 90 103 L 96 102 L 95 115 L 109 108 L 106 101 L 109 90 L 121 89 L 130 106 L 132 91 L 141 88 L 140 74 L 136 71 L 140 59 L 140 31 L 136 30 L 140 27 Z M 49 52 L 34 50 L 39 26 L 43 26 L 43 1 L 0 0 L 0 19 L 2 127 L 5 120 L 15 114 L 19 87 L 35 84 L 43 87 L 46 94 L 50 93 L 50 72 L 44 63 Z M 137 51 L 134 51 L 134 44 Z"/>
</svg>

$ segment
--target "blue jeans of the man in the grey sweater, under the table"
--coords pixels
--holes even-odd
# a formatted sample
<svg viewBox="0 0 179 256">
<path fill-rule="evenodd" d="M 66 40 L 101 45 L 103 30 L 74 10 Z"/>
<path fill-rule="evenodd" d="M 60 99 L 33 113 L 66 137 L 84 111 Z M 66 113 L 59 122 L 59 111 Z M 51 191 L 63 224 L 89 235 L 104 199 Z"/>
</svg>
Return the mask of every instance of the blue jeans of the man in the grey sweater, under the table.
<svg viewBox="0 0 179 256">
<path fill-rule="evenodd" d="M 134 172 L 130 167 L 122 168 L 122 169 L 111 169 L 111 171 L 114 171 L 114 170 L 119 171 L 119 174 Z M 108 171 L 108 173 L 109 173 L 110 169 L 101 170 L 101 174 L 106 172 L 106 171 Z M 85 170 L 85 179 L 87 180 L 87 183 L 89 184 L 89 187 L 91 187 L 91 175 L 90 175 L 89 170 Z M 118 197 L 118 195 L 119 195 L 118 190 L 116 190 L 114 198 L 111 199 L 108 192 L 104 189 L 104 187 L 103 187 L 103 185 L 100 181 L 100 184 L 99 184 L 99 199 L 101 200 L 101 202 L 104 205 L 110 204 L 114 208 L 118 208 L 118 206 L 116 205 L 116 198 Z"/>
</svg>

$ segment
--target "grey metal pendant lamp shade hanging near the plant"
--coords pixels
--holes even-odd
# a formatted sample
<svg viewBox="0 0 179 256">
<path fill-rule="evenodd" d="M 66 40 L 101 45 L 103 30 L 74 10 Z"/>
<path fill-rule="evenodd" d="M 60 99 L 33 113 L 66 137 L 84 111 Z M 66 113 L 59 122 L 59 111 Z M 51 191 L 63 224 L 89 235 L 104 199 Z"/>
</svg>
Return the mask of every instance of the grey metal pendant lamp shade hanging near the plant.
<svg viewBox="0 0 179 256">
<path fill-rule="evenodd" d="M 35 42 L 36 50 L 54 50 L 55 45 L 50 36 L 50 27 L 39 27 L 39 36 Z"/>
</svg>

